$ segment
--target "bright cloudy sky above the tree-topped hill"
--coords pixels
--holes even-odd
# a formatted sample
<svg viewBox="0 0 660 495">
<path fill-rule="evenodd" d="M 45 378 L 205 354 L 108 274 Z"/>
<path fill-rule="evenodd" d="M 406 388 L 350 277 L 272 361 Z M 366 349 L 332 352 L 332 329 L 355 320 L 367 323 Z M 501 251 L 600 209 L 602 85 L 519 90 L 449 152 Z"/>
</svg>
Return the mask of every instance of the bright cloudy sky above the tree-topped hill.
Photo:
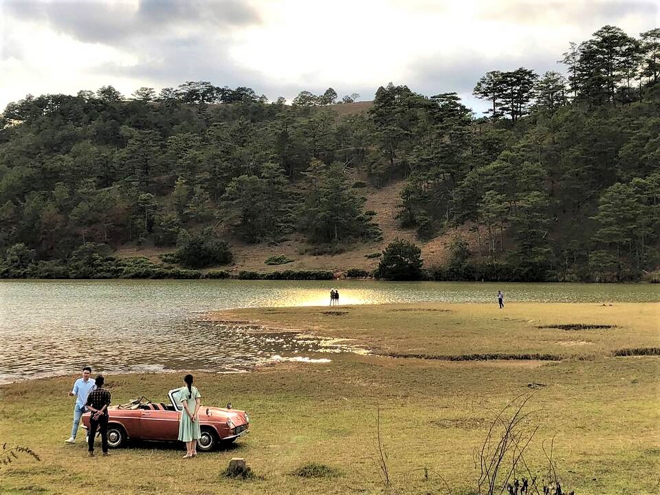
<svg viewBox="0 0 660 495">
<path fill-rule="evenodd" d="M 186 80 L 291 100 L 371 100 L 392 81 L 468 106 L 493 69 L 555 63 L 605 24 L 660 26 L 660 0 L 0 0 L 0 110 L 25 94 Z"/>
</svg>

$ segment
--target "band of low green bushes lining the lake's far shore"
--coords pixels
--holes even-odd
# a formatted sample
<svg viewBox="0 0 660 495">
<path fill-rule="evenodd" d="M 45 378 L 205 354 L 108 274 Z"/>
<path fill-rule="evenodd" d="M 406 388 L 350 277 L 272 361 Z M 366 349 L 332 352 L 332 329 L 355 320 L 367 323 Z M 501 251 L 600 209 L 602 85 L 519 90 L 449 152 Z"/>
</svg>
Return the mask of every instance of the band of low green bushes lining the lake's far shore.
<svg viewBox="0 0 660 495">
<path fill-rule="evenodd" d="M 421 251 L 409 241 L 395 239 L 379 253 L 380 263 L 374 270 L 349 267 L 330 270 L 207 270 L 199 268 L 229 264 L 232 254 L 223 241 L 202 243 L 190 239 L 176 252 L 159 256 L 154 263 L 146 256 L 120 258 L 111 255 L 109 246 L 85 243 L 67 260 L 36 261 L 25 245 L 15 245 L 10 256 L 0 260 L 0 279 L 234 279 L 234 280 L 296 280 L 330 281 L 336 278 L 382 281 L 445 281 L 445 282 L 635 282 L 629 273 L 602 274 L 584 271 L 575 274 L 553 270 L 525 270 L 506 262 L 477 261 L 469 253 L 456 250 L 454 242 L 448 261 L 443 265 L 423 266 Z M 373 256 L 372 256 L 373 257 Z M 279 261 L 279 260 L 278 260 Z M 287 263 L 293 260 L 288 260 Z M 270 263 L 266 263 L 269 265 Z M 657 272 L 644 281 L 658 283 Z"/>
</svg>

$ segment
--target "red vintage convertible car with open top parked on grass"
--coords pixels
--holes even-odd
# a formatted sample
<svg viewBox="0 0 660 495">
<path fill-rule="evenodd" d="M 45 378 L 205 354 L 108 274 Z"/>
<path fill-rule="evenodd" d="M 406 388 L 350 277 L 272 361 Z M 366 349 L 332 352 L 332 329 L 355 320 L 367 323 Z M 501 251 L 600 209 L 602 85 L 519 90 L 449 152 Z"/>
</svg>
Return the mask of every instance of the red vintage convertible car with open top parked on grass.
<svg viewBox="0 0 660 495">
<path fill-rule="evenodd" d="M 181 403 L 180 388 L 168 392 L 170 404 L 152 402 L 142 397 L 122 406 L 108 408 L 108 447 L 118 448 L 129 439 L 177 441 Z M 231 443 L 248 433 L 250 418 L 243 410 L 201 406 L 199 408 L 201 438 L 197 450 L 210 452 L 221 443 Z M 89 429 L 89 412 L 83 415 L 83 428 Z"/>
</svg>

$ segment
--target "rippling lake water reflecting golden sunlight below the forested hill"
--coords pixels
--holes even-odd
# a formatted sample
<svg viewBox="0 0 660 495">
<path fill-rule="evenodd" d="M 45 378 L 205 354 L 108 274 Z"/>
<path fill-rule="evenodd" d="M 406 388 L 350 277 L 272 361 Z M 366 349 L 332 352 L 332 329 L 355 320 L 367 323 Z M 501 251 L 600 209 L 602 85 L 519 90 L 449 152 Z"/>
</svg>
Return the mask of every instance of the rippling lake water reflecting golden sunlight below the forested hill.
<svg viewBox="0 0 660 495">
<path fill-rule="evenodd" d="M 0 281 L 0 383 L 94 371 L 245 371 L 278 359 L 358 351 L 294 333 L 203 321 L 236 307 L 340 304 L 648 302 L 660 285 L 385 283 L 373 281 Z"/>
</svg>

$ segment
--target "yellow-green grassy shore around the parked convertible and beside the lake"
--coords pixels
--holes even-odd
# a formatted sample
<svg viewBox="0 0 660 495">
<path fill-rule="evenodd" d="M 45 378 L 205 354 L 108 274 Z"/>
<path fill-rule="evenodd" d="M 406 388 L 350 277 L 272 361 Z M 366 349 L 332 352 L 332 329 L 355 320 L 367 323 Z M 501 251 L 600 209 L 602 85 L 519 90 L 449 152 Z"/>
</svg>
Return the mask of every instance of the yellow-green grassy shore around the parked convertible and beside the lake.
<svg viewBox="0 0 660 495">
<path fill-rule="evenodd" d="M 448 311 L 445 311 L 448 310 Z M 327 314 L 345 311 L 344 314 Z M 238 309 L 217 320 L 303 329 L 374 349 L 382 355 L 319 354 L 329 363 L 283 362 L 255 373 L 195 373 L 204 404 L 232 401 L 250 412 L 252 432 L 234 448 L 180 459 L 177 445 L 131 445 L 88 461 L 82 442 L 65 445 L 74 376 L 0 386 L 0 441 L 28 447 L 0 465 L 3 493 L 59 494 L 109 489 L 115 494 L 180 491 L 225 493 L 382 493 L 376 415 L 400 493 L 467 494 L 476 490 L 473 454 L 494 411 L 531 394 L 529 426 L 538 426 L 529 463 L 547 470 L 541 445 L 554 439 L 564 487 L 578 494 L 654 493 L 660 465 L 660 359 L 613 357 L 626 347 L 660 347 L 657 303 L 516 303 Z M 613 325 L 564 330 L 547 325 Z M 586 342 L 586 343 L 584 343 Z M 540 349 L 562 360 L 421 359 L 477 351 Z M 314 357 L 314 356 L 313 356 Z M 164 399 L 179 385 L 172 373 L 111 375 L 115 404 L 139 395 Z M 538 388 L 530 388 L 530 385 Z M 221 476 L 230 458 L 245 457 L 260 478 Z M 292 474 L 314 461 L 338 477 Z M 423 468 L 430 476 L 426 480 Z"/>
</svg>

